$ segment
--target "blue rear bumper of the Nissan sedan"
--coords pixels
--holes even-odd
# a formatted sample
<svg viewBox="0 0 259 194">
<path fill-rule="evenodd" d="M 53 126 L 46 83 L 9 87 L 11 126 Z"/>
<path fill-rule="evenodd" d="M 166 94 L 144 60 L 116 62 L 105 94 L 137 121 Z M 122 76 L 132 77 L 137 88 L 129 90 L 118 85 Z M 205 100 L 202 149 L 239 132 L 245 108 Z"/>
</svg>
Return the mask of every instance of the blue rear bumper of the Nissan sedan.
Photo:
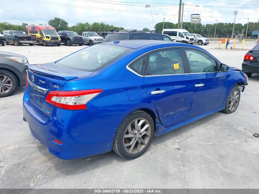
<svg viewBox="0 0 259 194">
<path fill-rule="evenodd" d="M 23 116 L 32 135 L 61 159 L 75 159 L 109 152 L 118 119 L 95 120 L 88 110 L 70 111 L 55 107 L 50 117 L 42 119 L 39 109 L 30 104 L 27 88 L 23 97 Z M 53 141 L 57 139 L 63 144 Z"/>
</svg>

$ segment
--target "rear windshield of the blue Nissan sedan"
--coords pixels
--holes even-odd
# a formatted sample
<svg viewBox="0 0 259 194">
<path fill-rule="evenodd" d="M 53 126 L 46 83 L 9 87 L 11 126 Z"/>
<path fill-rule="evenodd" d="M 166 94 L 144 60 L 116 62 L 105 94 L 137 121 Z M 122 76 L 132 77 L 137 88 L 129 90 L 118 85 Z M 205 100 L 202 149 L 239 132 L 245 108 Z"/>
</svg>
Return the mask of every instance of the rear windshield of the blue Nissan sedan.
<svg viewBox="0 0 259 194">
<path fill-rule="evenodd" d="M 127 47 L 97 44 L 68 55 L 55 64 L 73 70 L 98 71 L 133 50 Z"/>
</svg>

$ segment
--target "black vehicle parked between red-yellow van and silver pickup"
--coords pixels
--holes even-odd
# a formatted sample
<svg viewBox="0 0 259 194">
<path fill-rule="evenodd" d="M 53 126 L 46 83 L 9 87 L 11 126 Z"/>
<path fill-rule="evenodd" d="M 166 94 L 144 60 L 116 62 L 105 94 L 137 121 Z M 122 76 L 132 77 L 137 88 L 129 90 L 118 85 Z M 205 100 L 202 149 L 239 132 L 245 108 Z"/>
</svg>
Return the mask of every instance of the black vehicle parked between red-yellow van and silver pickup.
<svg viewBox="0 0 259 194">
<path fill-rule="evenodd" d="M 84 44 L 82 36 L 79 36 L 75 32 L 58 31 L 58 34 L 61 38 L 61 42 L 65 43 L 67 46 L 71 46 L 71 44 L 79 44 L 79 46 L 82 46 Z"/>
</svg>

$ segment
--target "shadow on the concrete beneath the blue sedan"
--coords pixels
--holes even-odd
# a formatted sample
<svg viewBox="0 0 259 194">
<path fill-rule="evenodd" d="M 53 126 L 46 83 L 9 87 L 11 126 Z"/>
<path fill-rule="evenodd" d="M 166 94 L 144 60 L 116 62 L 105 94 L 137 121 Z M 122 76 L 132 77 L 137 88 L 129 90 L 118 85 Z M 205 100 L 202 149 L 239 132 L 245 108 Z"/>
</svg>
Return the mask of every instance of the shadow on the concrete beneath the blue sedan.
<svg viewBox="0 0 259 194">
<path fill-rule="evenodd" d="M 160 135 L 158 137 L 153 138 L 151 145 L 156 146 L 160 143 L 163 143 L 169 139 L 175 138 L 175 133 L 177 135 L 184 134 L 188 132 L 189 130 L 193 129 L 193 126 L 200 127 L 204 126 L 208 120 L 213 120 L 220 116 L 221 113 L 214 113 L 210 116 L 207 116 L 203 119 L 200 119 L 198 121 L 192 122 L 188 125 L 185 125 L 183 127 L 177 128 L 175 131 L 170 131 L 166 134 Z M 177 139 L 175 138 L 175 141 Z M 49 153 L 44 151 L 47 150 L 47 147 L 45 146 L 39 146 L 38 147 L 41 154 L 43 154 L 45 157 Z M 145 153 L 147 154 L 147 152 Z M 54 156 L 53 156 L 54 157 Z M 51 158 L 49 158 L 51 160 Z M 64 175 L 77 175 L 80 173 L 85 172 L 91 172 L 94 169 L 100 168 L 101 166 L 109 165 L 113 163 L 114 161 L 119 163 L 128 162 L 128 159 L 124 159 L 120 157 L 118 154 L 116 154 L 113 150 L 104 154 L 98 154 L 90 157 L 80 158 L 80 159 L 74 159 L 74 160 L 62 160 L 59 158 L 55 158 L 55 162 L 53 162 L 53 166 L 55 170 L 59 171 L 60 173 Z"/>
</svg>

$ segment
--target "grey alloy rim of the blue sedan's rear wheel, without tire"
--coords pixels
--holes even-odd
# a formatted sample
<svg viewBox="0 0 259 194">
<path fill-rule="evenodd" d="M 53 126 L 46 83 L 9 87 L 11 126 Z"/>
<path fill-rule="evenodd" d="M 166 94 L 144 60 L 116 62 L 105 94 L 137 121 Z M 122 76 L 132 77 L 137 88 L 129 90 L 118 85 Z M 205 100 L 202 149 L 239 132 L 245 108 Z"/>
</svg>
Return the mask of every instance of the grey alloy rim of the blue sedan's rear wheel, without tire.
<svg viewBox="0 0 259 194">
<path fill-rule="evenodd" d="M 146 147 L 151 134 L 151 127 L 148 120 L 144 118 L 135 119 L 124 134 L 123 145 L 130 154 L 137 154 Z"/>
</svg>

